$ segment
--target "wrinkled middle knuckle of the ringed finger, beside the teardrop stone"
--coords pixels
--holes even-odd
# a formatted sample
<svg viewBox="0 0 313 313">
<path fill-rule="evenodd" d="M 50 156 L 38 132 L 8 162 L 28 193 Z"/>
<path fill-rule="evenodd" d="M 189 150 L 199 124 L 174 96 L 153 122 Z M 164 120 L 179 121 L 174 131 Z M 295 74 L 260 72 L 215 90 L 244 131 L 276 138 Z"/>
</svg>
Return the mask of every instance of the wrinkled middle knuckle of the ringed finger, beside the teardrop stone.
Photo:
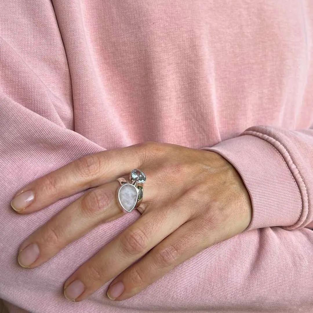
<svg viewBox="0 0 313 313">
<path fill-rule="evenodd" d="M 95 189 L 82 198 L 83 212 L 88 216 L 103 214 L 104 210 L 113 201 L 114 192 Z"/>
</svg>

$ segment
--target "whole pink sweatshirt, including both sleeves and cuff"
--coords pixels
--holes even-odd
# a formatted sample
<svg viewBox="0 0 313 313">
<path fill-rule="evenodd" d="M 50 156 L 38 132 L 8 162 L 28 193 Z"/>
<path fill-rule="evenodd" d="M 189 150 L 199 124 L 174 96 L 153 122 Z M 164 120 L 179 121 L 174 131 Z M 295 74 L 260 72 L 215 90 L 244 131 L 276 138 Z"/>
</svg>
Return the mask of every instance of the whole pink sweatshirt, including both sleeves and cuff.
<svg viewBox="0 0 313 313">
<path fill-rule="evenodd" d="M 0 298 L 9 312 L 313 312 L 312 27 L 312 0 L 0 0 Z M 131 299 L 106 298 L 108 282 L 69 302 L 65 280 L 140 214 L 26 270 L 19 245 L 81 194 L 23 216 L 10 200 L 80 156 L 142 141 L 227 158 L 251 196 L 249 230 Z"/>
</svg>

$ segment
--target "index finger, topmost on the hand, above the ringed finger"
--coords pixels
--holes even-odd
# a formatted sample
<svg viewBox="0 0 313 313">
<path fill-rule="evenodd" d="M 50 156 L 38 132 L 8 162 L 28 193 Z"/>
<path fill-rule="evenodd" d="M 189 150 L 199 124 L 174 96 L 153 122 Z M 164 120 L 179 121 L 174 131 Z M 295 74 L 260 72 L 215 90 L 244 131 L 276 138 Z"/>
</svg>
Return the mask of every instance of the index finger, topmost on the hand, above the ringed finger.
<svg viewBox="0 0 313 313">
<path fill-rule="evenodd" d="M 31 213 L 59 199 L 113 181 L 140 168 L 150 146 L 138 144 L 81 157 L 29 183 L 17 192 L 11 206 L 18 213 Z"/>
</svg>

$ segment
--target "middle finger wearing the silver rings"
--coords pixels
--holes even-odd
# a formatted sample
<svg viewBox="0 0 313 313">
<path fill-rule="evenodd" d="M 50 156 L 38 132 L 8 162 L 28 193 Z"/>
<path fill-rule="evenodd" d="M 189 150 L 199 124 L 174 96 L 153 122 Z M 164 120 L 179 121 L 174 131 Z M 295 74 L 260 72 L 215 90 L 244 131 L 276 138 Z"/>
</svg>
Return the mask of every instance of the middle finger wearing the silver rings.
<svg viewBox="0 0 313 313">
<path fill-rule="evenodd" d="M 124 211 L 116 199 L 119 186 L 114 181 L 97 187 L 61 210 L 23 242 L 19 264 L 31 269 L 38 267 L 100 223 L 122 216 Z M 149 189 L 145 189 L 144 198 L 145 204 L 150 202 Z"/>
</svg>

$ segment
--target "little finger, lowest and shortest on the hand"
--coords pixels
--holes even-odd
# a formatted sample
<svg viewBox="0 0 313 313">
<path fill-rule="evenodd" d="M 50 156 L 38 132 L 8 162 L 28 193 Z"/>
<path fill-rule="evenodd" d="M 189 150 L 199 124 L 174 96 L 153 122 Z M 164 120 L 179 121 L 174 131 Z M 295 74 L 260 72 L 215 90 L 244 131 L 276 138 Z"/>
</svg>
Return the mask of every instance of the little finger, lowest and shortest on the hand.
<svg viewBox="0 0 313 313">
<path fill-rule="evenodd" d="M 138 294 L 175 266 L 210 246 L 204 234 L 198 219 L 186 222 L 116 277 L 110 284 L 108 297 L 120 301 Z"/>
</svg>

